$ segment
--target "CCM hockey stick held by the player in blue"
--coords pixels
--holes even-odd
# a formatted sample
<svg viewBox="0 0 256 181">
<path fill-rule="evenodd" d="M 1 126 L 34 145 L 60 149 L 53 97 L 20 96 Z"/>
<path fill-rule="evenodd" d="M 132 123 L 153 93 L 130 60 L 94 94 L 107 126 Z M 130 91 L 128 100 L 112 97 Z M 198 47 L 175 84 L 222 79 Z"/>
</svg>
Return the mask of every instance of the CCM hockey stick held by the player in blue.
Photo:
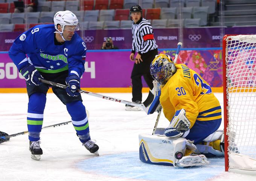
<svg viewBox="0 0 256 181">
<path fill-rule="evenodd" d="M 52 86 L 61 87 L 62 89 L 67 88 L 67 86 L 63 85 L 63 84 L 55 83 L 55 82 L 45 80 L 45 79 L 42 79 L 42 78 L 39 78 L 39 80 L 43 83 L 50 84 Z M 94 96 L 94 97 L 99 97 L 99 98 L 114 101 L 114 102 L 117 102 L 117 103 L 123 103 L 123 104 L 128 104 L 130 106 L 141 107 L 147 114 L 151 114 L 152 111 L 153 111 L 152 109 L 149 110 L 149 108 L 150 108 L 150 106 L 151 106 L 151 104 L 154 100 L 154 95 L 151 93 L 151 91 L 149 91 L 148 97 L 146 98 L 146 100 L 142 104 L 136 104 L 136 103 L 132 103 L 130 101 L 125 101 L 125 100 L 109 97 L 109 96 L 106 96 L 106 95 L 101 95 L 101 94 L 97 94 L 97 93 L 93 93 L 93 92 L 89 92 L 89 91 L 84 91 L 84 90 L 81 90 L 81 89 L 78 89 L 76 92 L 85 93 L 85 94 L 88 94 L 88 95 L 91 95 L 91 96 Z"/>
</svg>

